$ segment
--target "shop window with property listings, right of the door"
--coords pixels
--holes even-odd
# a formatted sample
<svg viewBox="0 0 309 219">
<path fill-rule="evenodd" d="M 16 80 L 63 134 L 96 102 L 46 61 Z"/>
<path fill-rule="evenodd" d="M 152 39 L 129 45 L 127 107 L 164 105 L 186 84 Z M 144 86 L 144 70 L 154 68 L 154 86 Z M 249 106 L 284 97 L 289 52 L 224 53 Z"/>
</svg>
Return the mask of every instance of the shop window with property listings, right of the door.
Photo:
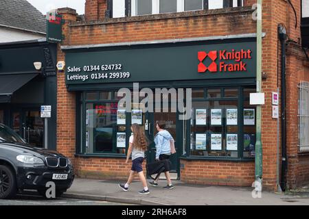
<svg viewBox="0 0 309 219">
<path fill-rule="evenodd" d="M 241 92 L 255 90 L 205 88 L 198 92 L 192 95 L 190 156 L 254 157 L 255 107 L 248 105 L 249 96 Z"/>
</svg>

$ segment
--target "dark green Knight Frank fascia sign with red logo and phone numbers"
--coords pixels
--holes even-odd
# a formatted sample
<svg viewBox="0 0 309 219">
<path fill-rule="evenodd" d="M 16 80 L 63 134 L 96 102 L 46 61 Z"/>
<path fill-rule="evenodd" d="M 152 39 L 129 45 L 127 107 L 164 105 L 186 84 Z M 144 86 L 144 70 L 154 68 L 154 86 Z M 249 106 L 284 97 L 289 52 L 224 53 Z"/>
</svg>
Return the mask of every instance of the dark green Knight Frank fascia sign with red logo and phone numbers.
<svg viewBox="0 0 309 219">
<path fill-rule="evenodd" d="M 256 42 L 177 42 L 66 51 L 67 85 L 254 78 Z"/>
</svg>

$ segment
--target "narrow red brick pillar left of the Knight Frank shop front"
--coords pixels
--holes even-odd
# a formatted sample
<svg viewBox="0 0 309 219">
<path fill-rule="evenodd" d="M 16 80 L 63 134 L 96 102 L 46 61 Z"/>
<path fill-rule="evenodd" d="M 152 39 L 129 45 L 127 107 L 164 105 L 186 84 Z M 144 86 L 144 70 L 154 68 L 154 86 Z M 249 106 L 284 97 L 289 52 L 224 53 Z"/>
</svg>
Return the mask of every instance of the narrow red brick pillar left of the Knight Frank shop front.
<svg viewBox="0 0 309 219">
<path fill-rule="evenodd" d="M 65 40 L 58 44 L 57 62 L 65 60 L 65 53 L 60 49 L 62 44 L 70 44 L 69 24 L 76 21 L 76 10 L 60 8 L 65 24 L 62 35 Z M 76 151 L 76 94 L 68 92 L 65 86 L 65 73 L 57 72 L 57 151 L 73 159 Z"/>
</svg>

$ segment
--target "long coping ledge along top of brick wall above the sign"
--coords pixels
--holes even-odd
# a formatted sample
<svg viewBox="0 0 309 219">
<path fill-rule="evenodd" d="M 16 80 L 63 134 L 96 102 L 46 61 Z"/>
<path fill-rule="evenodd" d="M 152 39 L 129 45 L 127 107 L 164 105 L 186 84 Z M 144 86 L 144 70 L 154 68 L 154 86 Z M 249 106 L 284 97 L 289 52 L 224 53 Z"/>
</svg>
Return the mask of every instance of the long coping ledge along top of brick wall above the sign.
<svg viewBox="0 0 309 219">
<path fill-rule="evenodd" d="M 137 21 L 154 21 L 167 18 L 186 18 L 193 16 L 213 16 L 217 14 L 231 14 L 231 13 L 252 13 L 254 10 L 251 6 L 234 7 L 234 8 L 220 8 L 211 10 L 196 10 L 187 12 L 174 12 L 174 13 L 163 13 L 163 14 L 149 14 L 139 16 L 126 16 L 123 18 L 105 18 L 101 21 L 78 21 L 71 23 L 70 27 L 84 26 L 84 25 L 104 25 L 110 23 L 128 23 Z"/>
</svg>

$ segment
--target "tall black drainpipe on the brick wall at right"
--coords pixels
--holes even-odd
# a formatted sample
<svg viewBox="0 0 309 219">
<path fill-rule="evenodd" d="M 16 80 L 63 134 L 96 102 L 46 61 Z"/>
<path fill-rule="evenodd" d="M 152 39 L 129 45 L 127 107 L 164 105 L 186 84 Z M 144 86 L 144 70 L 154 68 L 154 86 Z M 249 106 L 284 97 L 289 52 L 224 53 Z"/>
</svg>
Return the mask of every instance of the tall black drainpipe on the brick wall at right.
<svg viewBox="0 0 309 219">
<path fill-rule="evenodd" d="M 282 172 L 281 188 L 286 190 L 286 170 L 288 161 L 286 159 L 286 28 L 284 25 L 278 26 L 279 40 L 281 42 L 281 144 L 282 144 Z"/>
</svg>

